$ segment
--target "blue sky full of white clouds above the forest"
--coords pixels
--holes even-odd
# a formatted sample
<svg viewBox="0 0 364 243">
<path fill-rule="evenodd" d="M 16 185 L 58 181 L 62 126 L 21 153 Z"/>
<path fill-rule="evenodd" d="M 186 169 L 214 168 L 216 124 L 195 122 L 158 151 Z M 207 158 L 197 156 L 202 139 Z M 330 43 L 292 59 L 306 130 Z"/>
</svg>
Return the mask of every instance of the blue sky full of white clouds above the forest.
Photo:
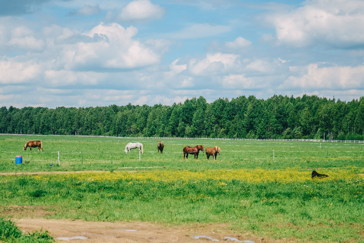
<svg viewBox="0 0 364 243">
<path fill-rule="evenodd" d="M 0 106 L 364 96 L 364 1 L 0 0 Z"/>
</svg>

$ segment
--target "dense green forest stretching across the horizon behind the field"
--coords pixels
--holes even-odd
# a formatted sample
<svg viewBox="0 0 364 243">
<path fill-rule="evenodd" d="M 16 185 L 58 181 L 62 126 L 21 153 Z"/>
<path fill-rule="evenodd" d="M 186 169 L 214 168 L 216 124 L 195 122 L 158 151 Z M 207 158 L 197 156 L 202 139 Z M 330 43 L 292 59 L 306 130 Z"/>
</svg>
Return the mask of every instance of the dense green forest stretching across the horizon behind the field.
<svg viewBox="0 0 364 243">
<path fill-rule="evenodd" d="M 350 102 L 303 95 L 202 96 L 172 106 L 0 109 L 0 132 L 121 137 L 364 140 L 364 97 Z"/>
</svg>

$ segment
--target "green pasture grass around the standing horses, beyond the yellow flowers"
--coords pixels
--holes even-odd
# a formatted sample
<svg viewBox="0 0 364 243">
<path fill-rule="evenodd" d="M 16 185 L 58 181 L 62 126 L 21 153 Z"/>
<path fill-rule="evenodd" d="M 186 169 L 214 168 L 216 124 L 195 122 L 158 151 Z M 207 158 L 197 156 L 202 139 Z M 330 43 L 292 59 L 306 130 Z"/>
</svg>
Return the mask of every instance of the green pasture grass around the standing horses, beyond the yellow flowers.
<svg viewBox="0 0 364 243">
<path fill-rule="evenodd" d="M 37 149 L 23 151 L 28 140 L 41 140 L 44 153 Z M 143 143 L 144 153 L 139 161 L 137 149 L 125 154 L 128 142 Z M 364 144 L 302 142 L 302 141 L 234 141 L 204 139 L 165 139 L 163 154 L 157 152 L 158 139 L 120 139 L 108 137 L 62 137 L 62 136 L 12 136 L 0 135 L 0 171 L 76 171 L 108 170 L 119 167 L 166 166 L 166 169 L 238 169 L 266 168 L 279 169 L 300 166 L 301 168 L 342 168 L 357 166 L 363 168 Z M 205 153 L 199 153 L 199 160 L 182 160 L 184 146 L 202 144 L 207 147 L 219 146 L 222 150 L 217 160 L 207 161 Z M 273 161 L 274 150 L 274 161 Z M 61 166 L 58 166 L 58 153 Z M 234 152 L 231 152 L 234 151 Z M 239 152 L 235 152 L 239 151 Z M 282 152 L 289 151 L 289 152 Z M 301 152 L 303 151 L 303 152 Z M 82 152 L 82 153 L 81 153 Z M 15 165 L 15 155 L 23 156 L 23 164 Z M 30 161 L 29 164 L 25 161 Z M 53 163 L 55 166 L 50 166 Z"/>
</svg>

